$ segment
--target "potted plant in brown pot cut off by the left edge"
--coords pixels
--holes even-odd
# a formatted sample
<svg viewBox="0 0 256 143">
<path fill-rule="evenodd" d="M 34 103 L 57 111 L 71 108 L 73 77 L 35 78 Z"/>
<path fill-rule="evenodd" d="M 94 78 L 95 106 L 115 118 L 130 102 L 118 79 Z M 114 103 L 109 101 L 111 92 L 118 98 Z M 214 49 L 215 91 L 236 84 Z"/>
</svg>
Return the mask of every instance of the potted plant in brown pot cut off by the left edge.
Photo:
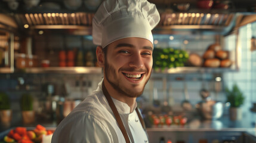
<svg viewBox="0 0 256 143">
<path fill-rule="evenodd" d="M 11 102 L 5 92 L 0 92 L 0 121 L 4 125 L 10 125 L 12 116 Z"/>
</svg>

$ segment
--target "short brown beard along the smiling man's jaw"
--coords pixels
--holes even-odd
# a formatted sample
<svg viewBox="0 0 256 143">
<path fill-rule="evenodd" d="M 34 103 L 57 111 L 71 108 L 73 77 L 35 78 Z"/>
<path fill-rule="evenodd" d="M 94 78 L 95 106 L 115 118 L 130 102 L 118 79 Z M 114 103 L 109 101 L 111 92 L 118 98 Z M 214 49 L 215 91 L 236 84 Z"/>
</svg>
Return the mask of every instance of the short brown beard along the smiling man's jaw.
<svg viewBox="0 0 256 143">
<path fill-rule="evenodd" d="M 106 78 L 107 81 L 110 83 L 110 85 L 112 85 L 112 87 L 113 87 L 116 91 L 118 91 L 120 94 L 125 95 L 125 96 L 127 96 L 127 97 L 132 97 L 132 98 L 134 98 L 134 97 L 139 97 L 141 94 L 143 94 L 144 88 L 145 88 L 147 82 L 149 81 L 149 78 L 146 80 L 146 82 L 145 82 L 145 84 L 143 85 L 143 88 L 141 89 L 141 91 L 136 92 L 136 91 L 134 91 L 134 90 L 132 90 L 132 89 L 127 89 L 127 88 L 125 88 L 125 86 L 119 85 L 119 80 L 115 80 L 115 81 L 110 81 L 110 80 L 109 80 L 109 74 L 108 74 L 108 73 L 113 73 L 113 74 L 112 74 L 112 75 L 113 75 L 113 79 L 118 79 L 118 78 L 116 77 L 116 71 L 115 71 L 115 69 L 113 68 L 113 66 L 111 66 L 110 64 L 107 63 L 107 60 L 106 60 L 106 62 L 105 62 L 105 64 L 104 64 L 104 67 L 105 67 L 104 73 L 105 73 L 105 76 L 106 76 L 106 77 L 104 77 L 104 78 Z M 128 71 L 132 71 L 132 70 L 128 70 Z M 150 73 L 150 75 L 151 75 L 151 73 Z M 149 76 L 149 77 L 150 77 L 150 76 Z M 134 85 L 134 87 L 135 87 L 135 86 L 136 86 L 136 85 Z"/>
</svg>

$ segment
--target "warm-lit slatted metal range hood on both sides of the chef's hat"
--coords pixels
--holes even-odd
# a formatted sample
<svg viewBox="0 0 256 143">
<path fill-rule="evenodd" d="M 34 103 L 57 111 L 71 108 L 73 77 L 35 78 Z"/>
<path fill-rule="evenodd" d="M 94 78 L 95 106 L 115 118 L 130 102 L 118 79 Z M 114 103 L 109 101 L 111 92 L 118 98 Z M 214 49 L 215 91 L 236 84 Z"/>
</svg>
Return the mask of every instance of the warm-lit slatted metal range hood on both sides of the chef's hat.
<svg viewBox="0 0 256 143">
<path fill-rule="evenodd" d="M 91 31 L 94 13 L 26 13 L 15 14 L 20 27 L 30 29 L 78 29 Z M 208 30 L 227 33 L 234 26 L 236 14 L 161 13 L 154 33 L 170 34 L 182 30 Z M 89 33 L 90 34 L 90 33 Z"/>
</svg>

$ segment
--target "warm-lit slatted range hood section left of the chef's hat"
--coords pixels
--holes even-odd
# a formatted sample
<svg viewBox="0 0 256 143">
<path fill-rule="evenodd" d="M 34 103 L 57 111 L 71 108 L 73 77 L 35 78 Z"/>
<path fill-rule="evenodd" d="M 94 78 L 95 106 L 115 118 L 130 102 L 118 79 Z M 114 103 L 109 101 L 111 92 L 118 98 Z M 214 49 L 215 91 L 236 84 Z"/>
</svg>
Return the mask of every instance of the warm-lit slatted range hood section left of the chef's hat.
<svg viewBox="0 0 256 143">
<path fill-rule="evenodd" d="M 93 13 L 26 13 L 16 14 L 20 26 L 31 29 L 82 29 L 91 27 Z"/>
</svg>

